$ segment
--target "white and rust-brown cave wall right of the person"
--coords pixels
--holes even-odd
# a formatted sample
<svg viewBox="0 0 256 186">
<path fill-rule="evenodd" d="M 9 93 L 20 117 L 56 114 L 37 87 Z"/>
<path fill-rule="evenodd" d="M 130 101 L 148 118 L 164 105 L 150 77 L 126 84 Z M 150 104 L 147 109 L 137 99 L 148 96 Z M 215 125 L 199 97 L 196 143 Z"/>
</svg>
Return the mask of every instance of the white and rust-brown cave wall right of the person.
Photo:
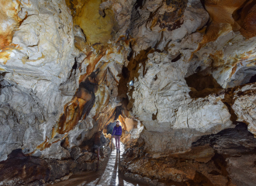
<svg viewBox="0 0 256 186">
<path fill-rule="evenodd" d="M 141 19 L 147 17 L 146 11 L 142 12 L 150 7 L 147 3 L 150 2 L 144 2 L 140 9 L 137 9 Z M 183 5 L 182 2 L 175 3 Z M 171 5 L 177 5 L 175 3 Z M 230 94 L 225 88 L 249 83 L 254 75 L 253 68 L 251 71 L 244 70 L 243 73 L 240 69 L 254 67 L 255 47 L 254 37 L 247 39 L 244 33 L 237 32 L 237 29 L 232 27 L 235 24 L 232 13 L 242 14 L 236 11 L 238 8 L 245 9 L 243 7 L 246 5 L 244 2 L 233 3 L 235 5 L 229 9 L 228 1 L 206 1 L 206 9 L 203 9 L 201 2 L 189 1 L 183 6 L 183 15 L 179 15 L 184 21 L 183 24 L 175 30 L 162 28 L 161 36 L 154 40 L 155 43 L 149 44 L 147 36 L 154 34 L 153 28 L 158 28 L 159 25 L 161 27 L 165 23 L 155 18 L 159 25 L 156 23 L 153 28 L 151 25 L 150 29 L 147 29 L 152 17 L 154 19 L 158 14 L 164 16 L 171 10 L 175 13 L 175 9 L 169 10 L 163 2 L 155 5 L 155 9 L 158 7 L 156 12 L 148 15 L 145 27 L 150 30 L 150 34 L 144 37 L 133 35 L 139 41 L 134 44 L 133 59 L 130 63 L 139 63 L 139 67 L 135 69 L 130 65 L 130 80 L 134 81 L 134 85 L 128 95 L 133 102 L 133 114 L 146 128 L 141 136 L 146 140 L 145 146 L 150 152 L 184 152 L 189 150 L 192 141 L 198 136 L 234 127 L 233 118 L 239 111 L 232 110 L 236 101 L 229 104 L 225 101 Z M 192 15 L 194 19 L 189 17 Z M 199 15 L 204 19 L 199 19 Z M 142 21 L 141 19 L 139 20 Z M 188 19 L 190 27 L 186 25 Z M 215 28 L 214 24 L 222 25 Z M 227 29 L 225 24 L 230 29 Z M 138 29 L 136 25 L 133 25 L 133 28 Z M 221 34 L 216 36 L 216 33 Z M 140 49 L 147 55 L 144 60 L 137 54 L 138 43 L 143 43 Z M 244 103 L 240 102 L 240 105 Z M 251 117 L 237 121 L 249 123 L 248 119 Z M 253 133 L 253 122 L 250 123 L 249 130 Z M 155 141 L 158 143 L 154 143 Z M 164 143 L 161 143 L 163 141 Z"/>
</svg>

